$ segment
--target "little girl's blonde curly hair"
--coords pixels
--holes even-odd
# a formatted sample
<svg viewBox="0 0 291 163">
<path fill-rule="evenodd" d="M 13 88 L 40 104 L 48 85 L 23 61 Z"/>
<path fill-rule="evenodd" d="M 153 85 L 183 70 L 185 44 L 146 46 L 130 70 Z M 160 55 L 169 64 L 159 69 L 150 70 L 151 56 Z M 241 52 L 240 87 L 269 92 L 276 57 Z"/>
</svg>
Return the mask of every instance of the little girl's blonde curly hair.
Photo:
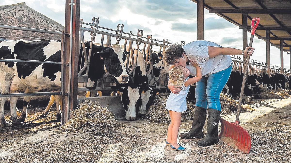
<svg viewBox="0 0 291 163">
<path fill-rule="evenodd" d="M 169 75 L 169 79 L 171 79 L 172 84 L 175 87 L 180 88 L 180 87 L 182 87 L 182 85 L 184 85 L 185 77 L 183 75 L 182 66 L 176 66 L 176 67 L 172 68 L 168 72 L 168 75 Z"/>
</svg>

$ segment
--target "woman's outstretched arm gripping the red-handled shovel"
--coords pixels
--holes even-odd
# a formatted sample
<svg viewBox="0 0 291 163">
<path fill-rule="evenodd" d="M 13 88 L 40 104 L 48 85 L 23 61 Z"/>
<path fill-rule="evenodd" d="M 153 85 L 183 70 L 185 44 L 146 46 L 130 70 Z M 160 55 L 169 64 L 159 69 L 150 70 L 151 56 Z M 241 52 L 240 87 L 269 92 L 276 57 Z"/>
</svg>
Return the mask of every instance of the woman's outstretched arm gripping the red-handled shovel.
<svg viewBox="0 0 291 163">
<path fill-rule="evenodd" d="M 221 48 L 216 46 L 207 46 L 208 47 L 208 55 L 209 58 L 215 57 L 217 55 L 242 55 L 242 52 L 244 52 L 244 56 L 246 54 L 252 56 L 255 48 L 252 48 L 251 46 L 246 47 L 244 50 L 239 50 L 236 48 Z M 251 49 L 249 52 L 248 50 Z"/>
</svg>

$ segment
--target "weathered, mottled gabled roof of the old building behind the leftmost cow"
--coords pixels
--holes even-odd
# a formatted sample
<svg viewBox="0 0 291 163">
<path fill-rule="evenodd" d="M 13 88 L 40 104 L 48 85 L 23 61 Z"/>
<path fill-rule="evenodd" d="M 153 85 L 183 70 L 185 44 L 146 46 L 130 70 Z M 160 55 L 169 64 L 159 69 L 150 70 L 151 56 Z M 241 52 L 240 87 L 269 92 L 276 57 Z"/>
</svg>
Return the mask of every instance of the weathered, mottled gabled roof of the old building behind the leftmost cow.
<svg viewBox="0 0 291 163">
<path fill-rule="evenodd" d="M 0 24 L 10 26 L 20 26 L 29 28 L 39 28 L 46 30 L 63 31 L 64 26 L 56 21 L 42 15 L 29 8 L 25 3 L 0 6 Z M 37 33 L 20 30 L 0 29 L 0 38 L 8 40 L 26 39 L 61 39 L 60 35 Z"/>
</svg>

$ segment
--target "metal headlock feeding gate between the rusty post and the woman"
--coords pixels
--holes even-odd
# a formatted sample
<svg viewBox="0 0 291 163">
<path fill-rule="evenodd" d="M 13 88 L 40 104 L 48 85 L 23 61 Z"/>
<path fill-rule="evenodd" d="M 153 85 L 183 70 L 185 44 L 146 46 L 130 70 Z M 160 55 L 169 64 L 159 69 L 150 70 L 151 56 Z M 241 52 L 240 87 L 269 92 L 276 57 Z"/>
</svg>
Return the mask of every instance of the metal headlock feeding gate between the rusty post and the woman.
<svg viewBox="0 0 291 163">
<path fill-rule="evenodd" d="M 110 29 L 105 28 L 102 26 L 99 26 L 99 18 L 93 17 L 91 23 L 85 23 L 83 22 L 83 19 L 80 19 L 80 37 L 79 37 L 79 44 L 83 47 L 82 55 L 84 55 L 85 64 L 84 66 L 80 67 L 80 71 L 78 73 L 78 82 L 84 83 L 84 87 L 79 87 L 78 91 L 97 91 L 97 90 L 111 90 L 111 87 L 105 87 L 105 82 L 108 81 L 107 78 L 111 77 L 108 73 L 102 77 L 102 79 L 98 80 L 98 83 L 101 83 L 101 86 L 95 88 L 95 89 L 88 89 L 86 88 L 87 82 L 88 82 L 88 69 L 90 65 L 90 57 L 93 47 L 93 42 L 96 42 L 96 34 L 101 35 L 100 39 L 100 46 L 110 47 L 111 46 L 111 37 L 115 37 L 116 44 L 119 44 L 120 42 L 124 41 L 124 51 L 130 52 L 127 55 L 127 62 L 125 63 L 125 68 L 129 72 L 129 75 L 132 77 L 132 80 L 134 81 L 134 74 L 135 74 L 135 68 L 136 68 L 136 62 L 137 62 L 137 56 L 139 50 L 143 50 L 143 55 L 145 55 L 145 67 L 148 72 L 147 75 L 149 75 L 150 72 L 153 71 L 153 64 L 152 64 L 152 48 L 153 46 L 157 46 L 159 49 L 158 52 L 161 53 L 164 51 L 168 46 L 173 45 L 173 43 L 168 42 L 168 39 L 163 39 L 163 41 L 160 41 L 158 39 L 153 39 L 152 35 L 147 35 L 147 37 L 144 37 L 143 30 L 138 30 L 137 34 L 132 34 L 132 31 L 129 33 L 124 32 L 123 24 L 118 24 L 116 29 Z M 83 25 L 89 26 L 89 28 L 84 27 Z M 107 30 L 107 31 L 101 31 Z M 85 31 L 90 32 L 91 40 L 86 41 L 90 42 L 90 47 L 86 47 L 86 42 L 84 40 L 84 33 Z M 104 36 L 107 37 L 106 43 L 104 44 Z M 134 42 L 136 43 L 136 46 L 134 46 Z M 143 48 L 140 49 L 140 45 L 143 44 Z M 182 41 L 181 44 L 185 44 L 185 41 Z M 89 54 L 86 54 L 86 48 L 89 48 Z M 131 66 L 131 67 L 130 67 Z M 86 70 L 85 75 L 81 75 Z M 151 73 L 153 75 L 153 73 Z M 152 79 L 155 80 L 155 78 L 152 76 Z M 150 81 L 149 81 L 150 82 Z M 153 85 L 151 86 L 157 86 L 157 81 L 153 82 Z"/>
</svg>

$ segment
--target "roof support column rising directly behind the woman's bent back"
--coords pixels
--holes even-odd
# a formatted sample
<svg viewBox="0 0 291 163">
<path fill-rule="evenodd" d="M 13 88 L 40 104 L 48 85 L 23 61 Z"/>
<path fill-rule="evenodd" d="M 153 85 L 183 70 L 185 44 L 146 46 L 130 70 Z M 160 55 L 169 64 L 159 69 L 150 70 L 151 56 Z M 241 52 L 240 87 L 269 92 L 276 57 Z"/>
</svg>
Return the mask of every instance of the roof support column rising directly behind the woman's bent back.
<svg viewBox="0 0 291 163">
<path fill-rule="evenodd" d="M 204 0 L 197 0 L 197 40 L 204 40 Z"/>
</svg>

